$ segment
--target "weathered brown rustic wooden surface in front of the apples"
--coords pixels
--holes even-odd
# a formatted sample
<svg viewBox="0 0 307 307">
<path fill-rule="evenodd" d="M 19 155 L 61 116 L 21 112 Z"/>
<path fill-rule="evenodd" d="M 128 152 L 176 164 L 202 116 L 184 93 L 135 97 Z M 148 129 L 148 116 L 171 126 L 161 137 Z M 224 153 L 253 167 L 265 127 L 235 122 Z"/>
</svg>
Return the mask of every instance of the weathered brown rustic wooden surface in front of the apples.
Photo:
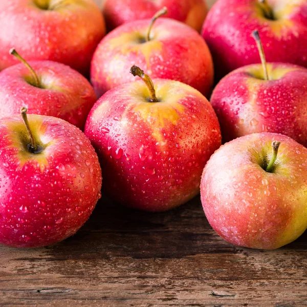
<svg viewBox="0 0 307 307">
<path fill-rule="evenodd" d="M 0 246 L 1 306 L 306 306 L 307 233 L 276 251 L 234 247 L 200 199 L 144 213 L 101 201 L 54 246 Z"/>
</svg>

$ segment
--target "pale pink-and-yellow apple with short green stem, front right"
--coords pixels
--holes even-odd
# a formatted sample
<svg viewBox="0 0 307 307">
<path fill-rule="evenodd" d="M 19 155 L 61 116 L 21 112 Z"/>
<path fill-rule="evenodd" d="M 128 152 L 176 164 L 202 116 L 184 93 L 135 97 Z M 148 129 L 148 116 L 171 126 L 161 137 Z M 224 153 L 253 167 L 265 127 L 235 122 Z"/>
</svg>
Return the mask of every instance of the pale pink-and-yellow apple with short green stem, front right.
<svg viewBox="0 0 307 307">
<path fill-rule="evenodd" d="M 223 145 L 201 182 L 213 229 L 232 244 L 259 249 L 298 238 L 307 228 L 306 161 L 305 147 L 278 134 L 252 134 Z"/>
</svg>

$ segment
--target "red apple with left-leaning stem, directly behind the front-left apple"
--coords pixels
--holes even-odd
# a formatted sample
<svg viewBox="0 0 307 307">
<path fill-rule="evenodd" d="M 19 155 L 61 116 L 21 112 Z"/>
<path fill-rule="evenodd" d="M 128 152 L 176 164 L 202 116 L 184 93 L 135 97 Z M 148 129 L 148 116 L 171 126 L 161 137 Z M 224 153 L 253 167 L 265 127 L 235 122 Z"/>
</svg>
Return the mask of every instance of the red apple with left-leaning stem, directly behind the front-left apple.
<svg viewBox="0 0 307 307">
<path fill-rule="evenodd" d="M 0 73 L 0 118 L 28 113 L 64 119 L 80 129 L 97 98 L 93 87 L 81 74 L 67 65 L 52 61 L 25 62 Z M 30 65 L 31 64 L 31 65 Z"/>
</svg>

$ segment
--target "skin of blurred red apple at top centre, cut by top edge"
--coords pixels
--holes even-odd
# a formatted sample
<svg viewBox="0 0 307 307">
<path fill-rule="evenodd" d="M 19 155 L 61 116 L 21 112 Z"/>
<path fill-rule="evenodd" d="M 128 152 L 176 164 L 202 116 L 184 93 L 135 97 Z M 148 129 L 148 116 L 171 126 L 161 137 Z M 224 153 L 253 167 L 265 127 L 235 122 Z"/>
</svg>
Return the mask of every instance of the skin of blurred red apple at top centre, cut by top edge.
<svg viewBox="0 0 307 307">
<path fill-rule="evenodd" d="M 138 19 L 152 18 L 163 7 L 168 18 L 182 21 L 200 32 L 208 9 L 203 0 L 106 0 L 103 6 L 108 30 Z"/>
</svg>

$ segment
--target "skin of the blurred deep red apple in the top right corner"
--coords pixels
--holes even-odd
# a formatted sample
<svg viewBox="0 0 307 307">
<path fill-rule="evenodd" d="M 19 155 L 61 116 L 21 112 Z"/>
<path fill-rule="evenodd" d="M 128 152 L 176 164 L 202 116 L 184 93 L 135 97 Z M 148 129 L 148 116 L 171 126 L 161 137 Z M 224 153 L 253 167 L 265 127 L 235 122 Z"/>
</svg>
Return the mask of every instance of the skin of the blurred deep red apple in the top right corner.
<svg viewBox="0 0 307 307">
<path fill-rule="evenodd" d="M 258 0 L 219 0 L 209 11 L 202 35 L 219 80 L 244 65 L 259 63 L 251 33 L 258 30 L 268 62 L 307 67 L 307 2 L 267 0 L 278 20 L 264 16 Z"/>
</svg>

